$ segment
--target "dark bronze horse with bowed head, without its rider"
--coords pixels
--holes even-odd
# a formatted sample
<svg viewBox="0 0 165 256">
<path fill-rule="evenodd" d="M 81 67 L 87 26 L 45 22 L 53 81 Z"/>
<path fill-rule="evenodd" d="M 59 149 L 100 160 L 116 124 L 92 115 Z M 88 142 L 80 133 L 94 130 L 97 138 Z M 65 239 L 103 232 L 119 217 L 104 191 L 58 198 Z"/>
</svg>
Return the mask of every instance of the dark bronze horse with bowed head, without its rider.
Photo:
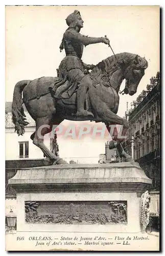
<svg viewBox="0 0 165 256">
<path fill-rule="evenodd" d="M 38 136 L 37 131 L 41 125 L 45 125 L 41 130 L 42 136 L 50 133 L 52 126 L 60 124 L 64 119 L 103 122 L 107 129 L 109 129 L 110 124 L 120 124 L 123 125 L 124 134 L 126 133 L 129 127 L 128 121 L 116 115 L 119 108 L 120 86 L 122 81 L 126 79 L 124 93 L 135 94 L 138 84 L 145 74 L 145 69 L 148 67 L 148 62 L 145 58 L 132 53 L 119 53 L 115 56 L 102 60 L 88 74 L 93 80 L 93 86 L 88 89 L 88 104 L 86 105 L 94 114 L 94 118 L 85 117 L 84 119 L 84 117 L 81 118 L 74 115 L 77 110 L 76 93 L 72 95 L 67 104 L 65 100 L 52 97 L 49 88 L 50 84 L 59 79 L 57 77 L 41 77 L 16 83 L 12 103 L 12 120 L 15 124 L 15 131 L 18 136 L 22 135 L 25 133 L 25 125 L 28 124 L 22 107 L 23 92 L 23 102 L 36 122 L 36 131 L 31 135 L 31 139 L 46 156 L 46 161 L 48 162 L 45 164 L 53 164 L 54 162 L 61 164 L 64 161 L 55 156 L 44 145 L 43 137 L 40 138 Z M 50 125 L 50 128 L 46 127 L 46 125 Z M 110 147 L 117 147 L 120 156 L 124 157 L 125 161 L 132 161 L 132 158 L 123 150 L 121 142 L 122 140 L 115 136 L 110 143 Z"/>
</svg>

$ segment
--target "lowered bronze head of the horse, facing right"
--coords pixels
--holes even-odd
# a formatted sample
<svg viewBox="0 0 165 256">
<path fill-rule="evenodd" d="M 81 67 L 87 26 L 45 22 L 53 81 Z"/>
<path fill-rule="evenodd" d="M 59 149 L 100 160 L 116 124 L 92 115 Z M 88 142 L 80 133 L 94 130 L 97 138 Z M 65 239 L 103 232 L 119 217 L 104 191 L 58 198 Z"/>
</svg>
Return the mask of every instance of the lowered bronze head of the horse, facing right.
<svg viewBox="0 0 165 256">
<path fill-rule="evenodd" d="M 124 62 L 124 60 L 123 60 Z M 125 63 L 124 63 L 125 64 Z M 131 61 L 130 65 L 124 70 L 126 79 L 125 94 L 134 95 L 137 91 L 138 84 L 145 74 L 145 69 L 148 67 L 148 62 L 145 58 L 138 55 Z"/>
</svg>

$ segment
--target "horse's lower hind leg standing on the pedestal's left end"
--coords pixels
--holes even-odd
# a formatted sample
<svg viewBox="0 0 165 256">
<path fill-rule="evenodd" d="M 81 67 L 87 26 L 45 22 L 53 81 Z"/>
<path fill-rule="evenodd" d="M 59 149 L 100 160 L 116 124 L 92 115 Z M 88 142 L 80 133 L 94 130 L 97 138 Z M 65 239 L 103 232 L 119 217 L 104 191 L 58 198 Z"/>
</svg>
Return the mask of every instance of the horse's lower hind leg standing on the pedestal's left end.
<svg viewBox="0 0 165 256">
<path fill-rule="evenodd" d="M 50 159 L 50 163 L 53 164 L 56 162 L 56 164 L 63 164 L 65 162 L 62 160 L 62 158 L 55 156 L 43 143 L 44 135 L 50 133 L 51 131 L 52 126 L 50 125 L 49 117 L 37 118 L 35 135 L 31 135 L 31 138 L 33 138 L 33 144 L 38 146 L 43 152 L 44 156 Z"/>
</svg>

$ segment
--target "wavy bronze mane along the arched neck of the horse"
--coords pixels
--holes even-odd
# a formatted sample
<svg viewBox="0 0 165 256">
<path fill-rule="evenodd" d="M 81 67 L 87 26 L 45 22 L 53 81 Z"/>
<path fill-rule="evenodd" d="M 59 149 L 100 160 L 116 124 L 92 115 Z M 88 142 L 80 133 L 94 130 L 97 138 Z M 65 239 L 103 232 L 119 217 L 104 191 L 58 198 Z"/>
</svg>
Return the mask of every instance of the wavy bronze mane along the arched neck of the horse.
<svg viewBox="0 0 165 256">
<path fill-rule="evenodd" d="M 106 59 L 103 59 L 90 72 L 90 77 L 93 80 L 93 84 L 97 85 L 98 83 L 100 83 L 100 80 L 102 80 L 104 86 L 109 87 L 109 79 L 111 75 L 119 68 L 119 64 L 117 63 L 117 61 L 120 63 L 120 66 L 122 66 L 123 63 L 124 65 L 128 66 L 129 63 L 133 63 L 132 61 L 135 59 L 136 56 L 137 54 L 124 52 L 117 53 L 115 54 L 115 56 L 112 55 Z M 140 56 L 138 56 L 138 60 L 140 63 L 140 66 L 138 65 L 138 67 L 145 67 L 147 61 Z"/>
</svg>

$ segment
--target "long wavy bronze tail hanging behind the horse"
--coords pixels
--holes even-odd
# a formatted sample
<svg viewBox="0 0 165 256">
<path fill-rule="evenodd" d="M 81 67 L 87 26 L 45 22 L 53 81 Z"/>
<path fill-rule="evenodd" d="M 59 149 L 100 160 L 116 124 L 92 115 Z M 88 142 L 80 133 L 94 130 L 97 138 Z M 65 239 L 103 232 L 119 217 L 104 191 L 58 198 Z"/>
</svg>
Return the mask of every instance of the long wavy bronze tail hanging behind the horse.
<svg viewBox="0 0 165 256">
<path fill-rule="evenodd" d="M 31 80 L 22 80 L 15 84 L 12 103 L 12 121 L 18 136 L 25 133 L 24 127 L 28 125 L 22 106 L 22 91 Z"/>
</svg>

